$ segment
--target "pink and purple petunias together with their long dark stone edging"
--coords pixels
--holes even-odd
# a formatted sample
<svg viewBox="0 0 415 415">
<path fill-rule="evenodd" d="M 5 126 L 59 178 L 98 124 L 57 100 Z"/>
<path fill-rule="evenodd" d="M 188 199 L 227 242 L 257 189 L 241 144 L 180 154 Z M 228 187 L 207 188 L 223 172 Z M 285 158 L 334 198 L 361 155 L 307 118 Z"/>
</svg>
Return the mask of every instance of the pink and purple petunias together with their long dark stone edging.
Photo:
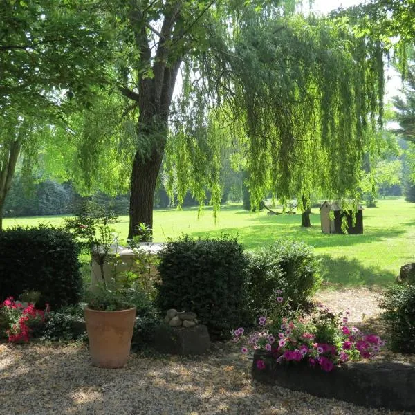
<svg viewBox="0 0 415 415">
<path fill-rule="evenodd" d="M 415 409 L 415 367 L 370 362 L 384 340 L 349 326 L 348 312 L 321 304 L 308 315 L 292 311 L 281 294 L 275 292 L 270 316 L 259 317 L 259 331 L 248 337 L 242 327 L 234 331 L 241 352 L 254 351 L 253 378 L 365 407 Z"/>
</svg>

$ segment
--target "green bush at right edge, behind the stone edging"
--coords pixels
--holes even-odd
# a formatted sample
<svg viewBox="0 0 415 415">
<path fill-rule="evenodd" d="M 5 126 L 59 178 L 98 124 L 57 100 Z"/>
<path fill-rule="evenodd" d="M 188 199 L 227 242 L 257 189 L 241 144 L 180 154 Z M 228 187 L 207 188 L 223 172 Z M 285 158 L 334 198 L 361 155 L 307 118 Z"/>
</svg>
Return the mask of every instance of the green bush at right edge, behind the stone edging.
<svg viewBox="0 0 415 415">
<path fill-rule="evenodd" d="M 415 353 L 415 285 L 395 284 L 380 300 L 382 319 L 388 326 L 393 351 Z"/>
</svg>

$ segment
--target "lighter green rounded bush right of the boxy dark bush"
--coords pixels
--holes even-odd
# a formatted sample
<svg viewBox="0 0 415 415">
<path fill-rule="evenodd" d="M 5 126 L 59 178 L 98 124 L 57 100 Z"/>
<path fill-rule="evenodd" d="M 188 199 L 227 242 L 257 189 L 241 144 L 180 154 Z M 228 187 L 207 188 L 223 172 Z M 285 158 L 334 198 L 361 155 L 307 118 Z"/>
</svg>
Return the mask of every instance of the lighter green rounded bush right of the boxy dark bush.
<svg viewBox="0 0 415 415">
<path fill-rule="evenodd" d="M 282 290 L 292 308 L 308 306 L 321 282 L 319 262 L 306 243 L 280 240 L 249 254 L 250 307 L 259 314 Z"/>
</svg>

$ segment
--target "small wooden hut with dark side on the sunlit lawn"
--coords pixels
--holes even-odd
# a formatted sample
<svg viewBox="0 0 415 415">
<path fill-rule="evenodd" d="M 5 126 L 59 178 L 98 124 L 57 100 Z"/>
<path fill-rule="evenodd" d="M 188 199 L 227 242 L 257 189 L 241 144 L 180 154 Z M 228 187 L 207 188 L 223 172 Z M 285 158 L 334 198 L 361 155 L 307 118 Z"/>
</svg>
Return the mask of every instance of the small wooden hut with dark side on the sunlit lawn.
<svg viewBox="0 0 415 415">
<path fill-rule="evenodd" d="M 330 219 L 330 212 L 333 212 L 334 219 Z M 355 212 L 356 223 L 353 226 L 353 211 L 341 210 L 338 203 L 330 203 L 325 201 L 320 208 L 320 221 L 323 233 L 343 233 L 342 221 L 343 217 L 347 219 L 347 233 L 362 234 L 363 233 L 363 208 L 359 205 L 358 212 Z"/>
</svg>

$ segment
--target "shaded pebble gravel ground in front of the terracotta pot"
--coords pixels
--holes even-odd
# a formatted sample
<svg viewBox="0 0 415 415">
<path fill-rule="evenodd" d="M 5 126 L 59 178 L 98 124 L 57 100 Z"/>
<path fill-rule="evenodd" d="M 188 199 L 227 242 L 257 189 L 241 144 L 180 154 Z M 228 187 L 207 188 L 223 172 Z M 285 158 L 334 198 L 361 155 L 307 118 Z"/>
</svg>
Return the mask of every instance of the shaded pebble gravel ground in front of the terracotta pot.
<svg viewBox="0 0 415 415">
<path fill-rule="evenodd" d="M 122 369 L 91 365 L 86 348 L 0 344 L 1 415 L 398 414 L 253 382 L 250 361 L 131 355 Z"/>
</svg>

